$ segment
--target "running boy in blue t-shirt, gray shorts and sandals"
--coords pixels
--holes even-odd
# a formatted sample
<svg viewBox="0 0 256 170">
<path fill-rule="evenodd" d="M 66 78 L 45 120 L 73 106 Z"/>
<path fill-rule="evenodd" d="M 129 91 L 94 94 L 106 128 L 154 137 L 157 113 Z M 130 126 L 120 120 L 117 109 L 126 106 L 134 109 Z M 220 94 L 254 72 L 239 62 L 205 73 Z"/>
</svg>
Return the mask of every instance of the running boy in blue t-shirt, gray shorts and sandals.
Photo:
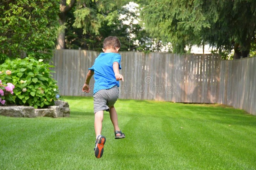
<svg viewBox="0 0 256 170">
<path fill-rule="evenodd" d="M 93 89 L 93 107 L 94 107 L 94 129 L 96 134 L 95 156 L 101 158 L 103 147 L 106 142 L 106 137 L 101 135 L 103 111 L 109 112 L 111 122 L 114 126 L 115 138 L 125 138 L 118 127 L 117 114 L 114 104 L 118 98 L 119 80 L 124 81 L 124 78 L 119 74 L 121 69 L 121 55 L 118 51 L 121 48 L 121 43 L 116 36 L 109 36 L 103 42 L 103 52 L 95 59 L 94 64 L 89 68 L 83 92 L 89 92 L 89 82 L 94 74 L 95 84 Z"/>
</svg>

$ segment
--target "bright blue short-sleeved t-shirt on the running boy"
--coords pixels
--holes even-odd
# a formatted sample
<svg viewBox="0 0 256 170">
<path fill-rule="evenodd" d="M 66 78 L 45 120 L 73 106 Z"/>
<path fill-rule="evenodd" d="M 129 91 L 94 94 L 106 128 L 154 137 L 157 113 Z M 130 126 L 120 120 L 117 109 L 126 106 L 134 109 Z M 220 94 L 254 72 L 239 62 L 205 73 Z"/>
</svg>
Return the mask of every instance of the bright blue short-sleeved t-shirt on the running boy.
<svg viewBox="0 0 256 170">
<path fill-rule="evenodd" d="M 118 53 L 100 53 L 95 59 L 94 64 L 89 70 L 94 72 L 94 89 L 93 94 L 101 89 L 110 89 L 117 85 L 119 87 L 119 81 L 116 81 L 115 73 L 113 70 L 113 63 L 119 63 L 119 69 L 121 69 L 121 55 Z"/>
</svg>

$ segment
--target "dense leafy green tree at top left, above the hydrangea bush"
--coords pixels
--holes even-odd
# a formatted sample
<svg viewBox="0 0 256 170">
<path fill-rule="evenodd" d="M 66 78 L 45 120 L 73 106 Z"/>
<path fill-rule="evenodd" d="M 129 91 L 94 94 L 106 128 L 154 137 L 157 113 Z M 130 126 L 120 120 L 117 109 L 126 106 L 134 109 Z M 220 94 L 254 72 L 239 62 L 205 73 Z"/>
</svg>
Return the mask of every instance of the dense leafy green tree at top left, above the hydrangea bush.
<svg viewBox="0 0 256 170">
<path fill-rule="evenodd" d="M 0 60 L 7 57 L 51 58 L 56 40 L 58 2 L 0 1 Z"/>
</svg>

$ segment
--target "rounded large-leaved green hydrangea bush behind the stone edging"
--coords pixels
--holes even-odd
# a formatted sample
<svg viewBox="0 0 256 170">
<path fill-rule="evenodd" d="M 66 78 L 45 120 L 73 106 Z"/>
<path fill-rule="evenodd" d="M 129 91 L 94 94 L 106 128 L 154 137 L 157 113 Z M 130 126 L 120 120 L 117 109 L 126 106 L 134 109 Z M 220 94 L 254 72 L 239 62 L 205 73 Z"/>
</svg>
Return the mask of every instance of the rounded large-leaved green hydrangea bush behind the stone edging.
<svg viewBox="0 0 256 170">
<path fill-rule="evenodd" d="M 53 72 L 50 67 L 53 66 L 43 63 L 42 59 L 37 61 L 26 57 L 6 60 L 0 65 L 0 79 L 15 85 L 15 104 L 43 108 L 54 105 L 58 94 L 57 82 L 50 74 Z M 6 70 L 11 70 L 11 73 L 6 74 Z"/>
</svg>

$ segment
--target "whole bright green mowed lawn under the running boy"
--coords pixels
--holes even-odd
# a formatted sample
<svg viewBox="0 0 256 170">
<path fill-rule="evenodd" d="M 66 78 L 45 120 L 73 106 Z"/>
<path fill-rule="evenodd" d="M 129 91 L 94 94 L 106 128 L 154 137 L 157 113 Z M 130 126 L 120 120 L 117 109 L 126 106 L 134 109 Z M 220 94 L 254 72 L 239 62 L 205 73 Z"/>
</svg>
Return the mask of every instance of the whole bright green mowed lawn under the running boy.
<svg viewBox="0 0 256 170">
<path fill-rule="evenodd" d="M 218 105 L 118 100 L 126 138 L 104 112 L 94 156 L 93 99 L 64 97 L 69 118 L 0 116 L 0 169 L 256 169 L 256 116 Z"/>
</svg>

